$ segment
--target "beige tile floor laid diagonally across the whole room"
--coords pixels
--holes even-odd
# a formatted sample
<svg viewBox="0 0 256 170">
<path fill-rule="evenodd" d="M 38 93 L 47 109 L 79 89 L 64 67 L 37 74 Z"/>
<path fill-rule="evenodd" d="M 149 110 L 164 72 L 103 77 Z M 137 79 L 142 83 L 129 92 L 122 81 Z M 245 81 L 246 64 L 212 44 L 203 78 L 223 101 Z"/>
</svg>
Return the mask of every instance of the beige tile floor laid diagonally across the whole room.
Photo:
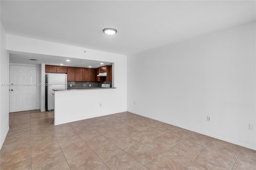
<svg viewBox="0 0 256 170">
<path fill-rule="evenodd" d="M 10 113 L 1 170 L 255 170 L 256 151 L 129 112 L 53 125 Z"/>
</svg>

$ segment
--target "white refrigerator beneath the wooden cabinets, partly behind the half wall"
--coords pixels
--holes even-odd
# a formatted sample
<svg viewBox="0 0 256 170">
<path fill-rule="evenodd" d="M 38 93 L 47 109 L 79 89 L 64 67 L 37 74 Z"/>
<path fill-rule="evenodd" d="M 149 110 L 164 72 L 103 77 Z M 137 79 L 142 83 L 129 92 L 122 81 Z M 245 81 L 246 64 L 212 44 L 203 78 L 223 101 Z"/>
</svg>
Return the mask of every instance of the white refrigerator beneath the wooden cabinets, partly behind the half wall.
<svg viewBox="0 0 256 170">
<path fill-rule="evenodd" d="M 47 73 L 47 110 L 54 109 L 54 91 L 52 89 L 67 89 L 67 75 L 65 73 Z"/>
</svg>

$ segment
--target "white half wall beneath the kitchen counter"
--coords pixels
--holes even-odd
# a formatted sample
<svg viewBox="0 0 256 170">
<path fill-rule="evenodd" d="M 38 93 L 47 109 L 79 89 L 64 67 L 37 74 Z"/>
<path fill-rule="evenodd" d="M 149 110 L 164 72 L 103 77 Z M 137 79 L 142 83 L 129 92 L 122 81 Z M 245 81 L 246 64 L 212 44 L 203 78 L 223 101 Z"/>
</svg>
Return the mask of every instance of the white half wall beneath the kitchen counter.
<svg viewBox="0 0 256 170">
<path fill-rule="evenodd" d="M 54 89 L 54 125 L 124 112 L 116 88 Z"/>
</svg>

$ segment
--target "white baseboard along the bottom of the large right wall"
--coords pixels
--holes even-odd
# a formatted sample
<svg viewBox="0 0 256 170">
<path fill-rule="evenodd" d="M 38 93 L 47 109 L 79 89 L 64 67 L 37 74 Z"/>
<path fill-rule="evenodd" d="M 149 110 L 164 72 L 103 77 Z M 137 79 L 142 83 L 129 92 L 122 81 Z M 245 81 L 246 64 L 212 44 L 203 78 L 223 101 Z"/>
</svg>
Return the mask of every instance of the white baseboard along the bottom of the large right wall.
<svg viewBox="0 0 256 170">
<path fill-rule="evenodd" d="M 180 127 L 180 128 L 184 128 L 184 129 L 187 129 L 187 130 L 191 130 L 193 132 L 197 132 L 197 133 L 200 133 L 200 134 L 204 134 L 206 136 L 210 136 L 210 137 L 213 137 L 213 138 L 216 138 L 216 139 L 220 139 L 220 140 L 224 140 L 226 142 L 230 142 L 232 144 L 237 144 L 239 146 L 243 146 L 245 148 L 249 148 L 249 149 L 252 149 L 252 150 L 256 150 L 256 146 L 253 146 L 253 145 L 249 145 L 249 144 L 246 144 L 246 143 L 243 143 L 243 142 L 238 142 L 236 140 L 232 140 L 232 139 L 228 139 L 228 138 L 224 138 L 222 136 L 218 136 L 218 135 L 215 135 L 215 134 L 210 134 L 210 133 L 207 133 L 207 132 L 204 132 L 204 131 L 201 131 L 201 130 L 197 130 L 197 129 L 194 129 L 194 128 L 190 128 L 190 127 L 186 127 L 186 126 L 183 126 L 183 125 L 179 125 L 179 124 L 176 124 L 176 123 L 173 123 L 173 122 L 168 122 L 168 121 L 165 121 L 165 120 L 161 120 L 161 119 L 158 119 L 156 117 L 150 117 L 150 116 L 147 116 L 147 115 L 143 115 L 143 114 L 140 114 L 140 113 L 136 113 L 134 111 L 128 111 L 130 113 L 134 113 L 136 115 L 140 115 L 140 116 L 144 116 L 144 117 L 148 117 L 150 119 L 154 119 L 154 120 L 157 120 L 157 121 L 161 121 L 161 122 L 164 122 L 164 123 L 168 123 L 170 125 L 174 125 L 176 127 Z"/>
</svg>

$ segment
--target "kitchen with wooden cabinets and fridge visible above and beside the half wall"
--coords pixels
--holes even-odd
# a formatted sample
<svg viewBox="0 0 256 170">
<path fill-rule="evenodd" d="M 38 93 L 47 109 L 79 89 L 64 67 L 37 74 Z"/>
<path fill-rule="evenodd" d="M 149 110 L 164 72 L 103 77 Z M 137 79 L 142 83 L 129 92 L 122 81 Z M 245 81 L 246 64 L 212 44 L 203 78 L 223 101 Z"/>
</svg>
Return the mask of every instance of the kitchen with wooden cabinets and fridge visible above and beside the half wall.
<svg viewBox="0 0 256 170">
<path fill-rule="evenodd" d="M 45 65 L 46 110 L 54 109 L 55 91 L 113 88 L 112 63 L 98 68 L 91 67 Z"/>
</svg>

